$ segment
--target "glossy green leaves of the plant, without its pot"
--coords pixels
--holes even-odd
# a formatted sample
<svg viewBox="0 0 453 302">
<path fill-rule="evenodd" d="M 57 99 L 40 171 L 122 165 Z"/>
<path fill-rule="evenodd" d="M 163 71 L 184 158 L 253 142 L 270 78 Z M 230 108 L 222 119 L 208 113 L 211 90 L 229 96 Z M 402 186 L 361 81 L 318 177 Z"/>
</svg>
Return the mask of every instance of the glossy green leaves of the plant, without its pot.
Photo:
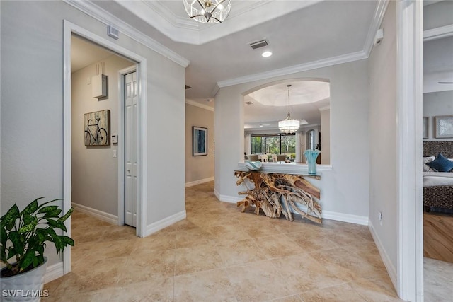
<svg viewBox="0 0 453 302">
<path fill-rule="evenodd" d="M 38 205 L 38 200 L 42 198 L 30 202 L 23 211 L 19 211 L 17 204 L 14 204 L 4 216 L 1 216 L 0 256 L 1 262 L 6 265 L 6 268 L 1 271 L 1 277 L 21 274 L 44 263 L 47 241 L 55 244 L 58 254 L 67 245 L 74 246 L 74 240 L 70 237 L 57 235 L 55 232 L 56 229 L 67 231 L 64 221 L 71 216 L 74 209 L 69 209 L 60 217 L 62 209 L 47 204 L 62 199 Z"/>
</svg>

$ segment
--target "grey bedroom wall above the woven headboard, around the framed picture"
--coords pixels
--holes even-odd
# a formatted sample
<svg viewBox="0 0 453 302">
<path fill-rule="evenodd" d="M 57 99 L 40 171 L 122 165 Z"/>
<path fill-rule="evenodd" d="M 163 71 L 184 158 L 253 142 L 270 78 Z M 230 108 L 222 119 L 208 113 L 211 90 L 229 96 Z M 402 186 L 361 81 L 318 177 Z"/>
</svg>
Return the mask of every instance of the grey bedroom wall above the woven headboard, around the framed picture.
<svg viewBox="0 0 453 302">
<path fill-rule="evenodd" d="M 435 116 L 453 115 L 453 91 L 423 93 L 423 117 L 428 119 L 428 139 L 424 141 L 453 141 L 435 138 Z"/>
</svg>

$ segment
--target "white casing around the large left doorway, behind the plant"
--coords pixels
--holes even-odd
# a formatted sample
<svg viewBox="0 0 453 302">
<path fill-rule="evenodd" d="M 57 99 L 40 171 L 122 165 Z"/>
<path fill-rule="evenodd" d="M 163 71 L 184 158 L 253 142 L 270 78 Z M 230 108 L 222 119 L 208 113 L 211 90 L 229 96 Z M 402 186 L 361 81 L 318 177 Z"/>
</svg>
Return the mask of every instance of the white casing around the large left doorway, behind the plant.
<svg viewBox="0 0 453 302">
<path fill-rule="evenodd" d="M 146 98 L 146 79 L 147 79 L 147 69 L 146 69 L 146 59 L 144 57 L 131 52 L 130 50 L 125 49 L 119 45 L 116 45 L 109 40 L 104 39 L 103 37 L 99 37 L 98 35 L 94 35 L 93 33 L 81 28 L 79 25 L 75 25 L 74 23 L 70 23 L 69 21 L 64 21 L 64 175 L 63 175 L 63 183 L 64 183 L 64 202 L 63 202 L 63 209 L 67 211 L 71 207 L 71 191 L 72 191 L 72 170 L 74 168 L 71 149 L 72 149 L 72 90 L 71 90 L 71 37 L 73 35 L 77 35 L 89 42 L 92 42 L 98 45 L 105 50 L 113 52 L 117 55 L 117 57 L 127 58 L 129 60 L 129 65 L 131 62 L 134 62 L 136 65 L 137 70 L 137 128 L 144 129 L 141 125 L 146 124 L 147 117 L 144 114 L 146 112 L 146 103 L 144 99 Z M 100 69 L 102 70 L 102 64 Z M 86 78 L 86 83 L 88 83 L 89 79 Z M 116 86 L 117 83 L 110 83 L 112 86 Z M 118 107 L 118 106 L 117 106 Z M 120 110 L 118 110 L 120 111 Z M 118 129 L 121 129 L 119 127 Z M 76 132 L 77 129 L 74 129 Z M 80 129 L 79 129 L 80 130 Z M 121 130 L 120 130 L 121 132 Z M 137 141 L 140 141 L 139 148 L 137 148 L 137 162 L 144 163 L 144 154 L 147 153 L 147 144 L 146 144 L 146 133 L 144 130 L 139 130 L 137 135 Z M 111 135 L 111 134 L 110 134 Z M 110 150 L 109 158 L 114 158 L 115 156 L 118 157 L 118 160 L 121 159 L 122 156 L 122 149 L 124 148 L 124 136 L 123 139 L 118 139 L 117 143 L 117 153 L 113 152 L 113 149 Z M 109 137 L 110 139 L 110 137 Z M 101 153 L 104 151 L 105 146 L 98 146 L 96 152 Z M 119 161 L 123 163 L 124 161 Z M 124 173 L 124 165 L 118 165 L 117 175 L 118 175 L 118 182 L 124 184 L 124 178 L 120 173 Z M 122 168 L 121 168 L 122 167 Z M 97 171 L 99 178 L 102 178 L 103 171 Z M 146 219 L 144 219 L 144 215 L 147 213 L 146 211 L 146 202 L 142 202 L 146 200 L 147 191 L 144 189 L 143 183 L 146 182 L 146 170 L 145 169 L 137 169 L 138 175 L 138 182 L 137 182 L 137 228 L 136 228 L 136 236 L 143 237 L 144 232 L 146 230 Z M 123 180 L 121 182 L 121 180 Z M 100 190 L 105 190 L 105 188 L 99 187 Z M 108 189 L 113 190 L 113 189 Z M 124 192 L 124 188 L 122 185 L 115 186 L 118 194 Z M 119 213 L 119 212 L 118 212 Z M 113 215 L 115 216 L 115 215 Z M 117 215 L 119 217 L 121 215 Z M 117 219 L 119 221 L 119 219 Z M 67 220 L 67 233 L 68 236 L 71 236 L 71 221 L 70 219 Z M 63 255 L 63 269 L 64 274 L 67 274 L 71 271 L 71 250 L 65 249 Z"/>
</svg>

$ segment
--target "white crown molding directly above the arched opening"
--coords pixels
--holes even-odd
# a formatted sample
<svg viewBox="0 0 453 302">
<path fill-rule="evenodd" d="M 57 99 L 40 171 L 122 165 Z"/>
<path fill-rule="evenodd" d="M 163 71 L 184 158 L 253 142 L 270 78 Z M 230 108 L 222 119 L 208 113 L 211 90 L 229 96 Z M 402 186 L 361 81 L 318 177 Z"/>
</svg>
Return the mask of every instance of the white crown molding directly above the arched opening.
<svg viewBox="0 0 453 302">
<path fill-rule="evenodd" d="M 288 74 L 296 74 L 297 72 L 309 71 L 309 70 L 313 70 L 313 69 L 319 69 L 319 68 L 323 68 L 323 67 L 353 62 L 353 61 L 357 61 L 357 60 L 361 60 L 361 59 L 367 59 L 367 57 L 368 57 L 367 54 L 365 54 L 365 52 L 363 50 L 361 50 L 360 52 L 352 52 L 350 54 L 343 54 L 338 57 L 321 59 L 321 60 L 314 61 L 314 62 L 298 64 L 298 65 L 289 66 L 289 67 L 285 67 L 285 68 L 281 68 L 281 69 L 275 69 L 275 70 L 271 70 L 271 71 L 265 71 L 265 72 L 261 72 L 259 74 L 251 74 L 249 76 L 241 76 L 241 77 L 235 78 L 235 79 L 219 81 L 219 82 L 217 82 L 217 86 L 219 86 L 219 88 L 223 88 L 223 87 L 238 85 L 238 84 L 242 84 L 242 83 L 249 83 L 249 82 L 253 82 L 253 81 L 270 79 L 270 78 L 274 78 L 276 76 L 286 76 Z"/>
</svg>

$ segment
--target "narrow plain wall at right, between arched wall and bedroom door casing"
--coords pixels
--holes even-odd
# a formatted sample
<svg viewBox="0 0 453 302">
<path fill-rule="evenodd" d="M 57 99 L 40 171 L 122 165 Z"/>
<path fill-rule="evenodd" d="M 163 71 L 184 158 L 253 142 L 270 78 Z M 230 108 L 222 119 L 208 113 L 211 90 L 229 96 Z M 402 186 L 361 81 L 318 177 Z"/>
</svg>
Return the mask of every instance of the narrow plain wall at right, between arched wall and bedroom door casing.
<svg viewBox="0 0 453 302">
<path fill-rule="evenodd" d="M 382 22 L 384 40 L 369 56 L 369 223 L 396 277 L 397 251 L 397 93 L 396 5 L 390 1 Z M 379 225 L 378 212 L 383 225 Z"/>
</svg>

